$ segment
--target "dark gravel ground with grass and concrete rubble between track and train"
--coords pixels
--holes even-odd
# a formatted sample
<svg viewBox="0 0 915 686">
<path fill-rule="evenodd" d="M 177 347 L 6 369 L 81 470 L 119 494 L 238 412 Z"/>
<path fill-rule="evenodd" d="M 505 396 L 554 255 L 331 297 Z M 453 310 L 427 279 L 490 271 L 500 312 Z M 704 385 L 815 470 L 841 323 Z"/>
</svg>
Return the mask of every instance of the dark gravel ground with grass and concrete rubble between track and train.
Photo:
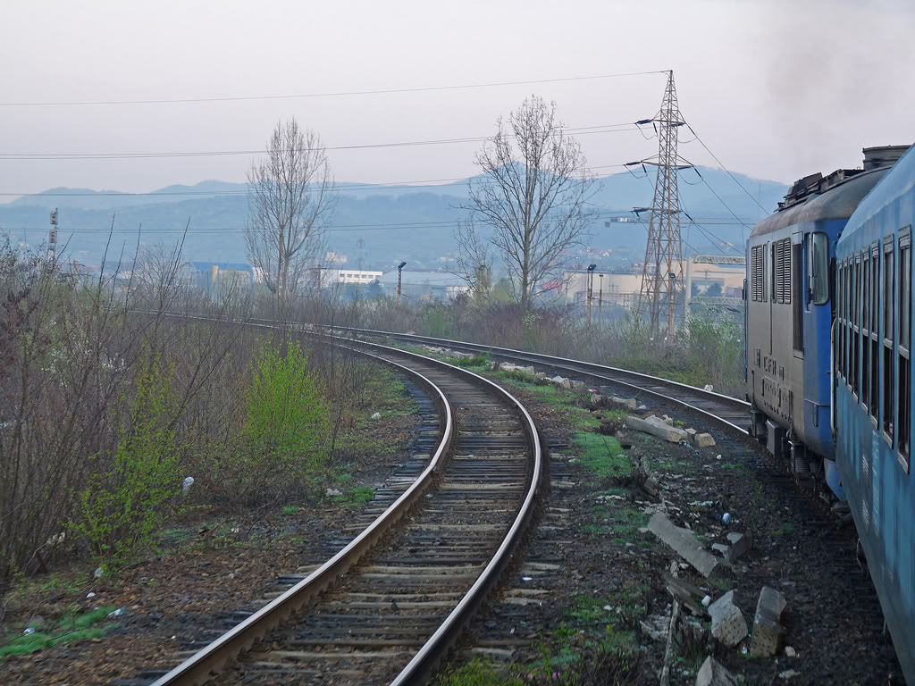
<svg viewBox="0 0 915 686">
<path fill-rule="evenodd" d="M 849 685 L 899 674 L 854 532 L 759 446 L 675 403 L 635 399 L 641 419 L 666 414 L 715 439 L 672 443 L 627 428 L 628 404 L 596 407 L 599 389 L 571 374 L 562 383 L 536 367 L 493 369 L 485 356 L 426 354 L 510 387 L 551 448 L 538 531 L 440 683 L 653 683 L 665 663 L 670 683 L 690 686 L 726 671 L 745 683 Z M 652 517 L 716 573 L 653 534 Z"/>
</svg>

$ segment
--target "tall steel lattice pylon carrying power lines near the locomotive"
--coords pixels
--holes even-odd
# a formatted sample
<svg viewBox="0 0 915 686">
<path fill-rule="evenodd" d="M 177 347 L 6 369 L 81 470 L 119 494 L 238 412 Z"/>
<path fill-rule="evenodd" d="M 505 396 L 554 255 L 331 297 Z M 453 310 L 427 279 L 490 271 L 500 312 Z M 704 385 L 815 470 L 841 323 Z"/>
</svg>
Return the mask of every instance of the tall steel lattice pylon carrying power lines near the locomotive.
<svg viewBox="0 0 915 686">
<path fill-rule="evenodd" d="M 673 70 L 667 77 L 667 87 L 664 89 L 658 115 L 637 123 L 651 123 L 654 126 L 658 134 L 658 156 L 656 160 L 640 160 L 629 164 L 657 166 L 658 175 L 654 182 L 651 208 L 635 209 L 637 214 L 651 211 L 636 313 L 641 316 L 647 305 L 651 320 L 651 336 L 655 336 L 661 327 L 662 305 L 666 299 L 667 338 L 673 340 L 673 314 L 677 305 L 677 294 L 683 291 L 684 283 L 684 249 L 683 238 L 680 235 L 680 190 L 677 175 L 680 169 L 693 166 L 677 155 L 677 132 L 684 125 L 684 121 L 680 117 L 677 91 L 673 86 Z"/>
</svg>

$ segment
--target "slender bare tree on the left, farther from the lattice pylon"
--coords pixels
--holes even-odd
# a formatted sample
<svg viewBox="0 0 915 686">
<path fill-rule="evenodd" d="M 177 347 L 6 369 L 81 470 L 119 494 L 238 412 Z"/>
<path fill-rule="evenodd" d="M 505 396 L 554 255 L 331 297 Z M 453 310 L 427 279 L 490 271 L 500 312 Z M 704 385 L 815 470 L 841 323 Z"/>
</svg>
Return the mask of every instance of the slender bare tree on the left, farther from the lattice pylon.
<svg viewBox="0 0 915 686">
<path fill-rule="evenodd" d="M 320 136 L 290 119 L 277 123 L 267 155 L 248 171 L 244 243 L 252 266 L 285 310 L 324 249 L 335 208 L 334 180 Z"/>
</svg>

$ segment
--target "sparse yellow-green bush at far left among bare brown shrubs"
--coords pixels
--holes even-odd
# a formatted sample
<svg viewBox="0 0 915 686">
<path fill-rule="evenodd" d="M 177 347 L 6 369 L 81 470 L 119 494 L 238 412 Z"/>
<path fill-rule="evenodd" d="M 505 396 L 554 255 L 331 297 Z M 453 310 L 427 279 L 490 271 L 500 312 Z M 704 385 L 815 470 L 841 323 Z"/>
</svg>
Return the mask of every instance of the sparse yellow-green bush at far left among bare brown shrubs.
<svg viewBox="0 0 915 686">
<path fill-rule="evenodd" d="M 70 523 L 105 568 L 129 563 L 150 547 L 178 494 L 177 402 L 155 356 L 142 369 L 117 450 L 107 466 L 90 475 Z M 100 464 L 102 456 L 93 462 Z"/>
</svg>

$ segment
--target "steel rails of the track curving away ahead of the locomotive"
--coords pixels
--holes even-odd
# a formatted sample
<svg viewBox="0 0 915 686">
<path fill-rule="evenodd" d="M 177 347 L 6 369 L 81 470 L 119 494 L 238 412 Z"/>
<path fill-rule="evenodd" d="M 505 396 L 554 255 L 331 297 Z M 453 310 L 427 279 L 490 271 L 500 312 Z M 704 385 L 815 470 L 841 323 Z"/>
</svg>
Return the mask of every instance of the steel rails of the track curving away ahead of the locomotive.
<svg viewBox="0 0 915 686">
<path fill-rule="evenodd" d="M 708 410 L 705 410 L 704 408 L 699 407 L 692 402 L 687 402 L 682 397 L 677 396 L 699 396 L 701 399 L 704 399 L 705 402 L 712 402 L 718 405 L 727 406 L 727 408 L 729 408 L 732 413 L 746 414 L 747 418 L 749 418 L 749 402 L 742 401 L 729 395 L 725 395 L 724 393 L 718 393 L 716 391 L 705 391 L 705 389 L 701 389 L 697 386 L 691 386 L 686 383 L 681 383 L 679 381 L 670 381 L 668 379 L 662 379 L 661 377 L 651 376 L 651 374 L 643 374 L 641 372 L 632 370 L 623 370 L 618 367 L 609 367 L 608 365 L 601 365 L 597 364 L 596 362 L 586 362 L 580 359 L 562 358 L 553 355 L 545 355 L 544 353 L 517 350 L 514 348 L 499 348 L 496 346 L 488 346 L 481 343 L 469 343 L 467 341 L 452 340 L 450 338 L 432 338 L 428 336 L 401 334 L 393 331 L 380 331 L 368 328 L 335 328 L 339 330 L 351 331 L 353 334 L 361 336 L 394 338 L 398 340 L 421 342 L 440 347 L 464 349 L 474 352 L 490 352 L 501 358 L 523 360 L 536 364 L 542 364 L 554 370 L 565 370 L 567 372 L 585 374 L 589 378 L 595 379 L 597 381 L 607 381 L 608 383 L 618 384 L 619 386 L 628 388 L 630 391 L 647 393 L 652 397 L 664 402 L 676 403 L 677 405 L 688 408 L 695 413 L 702 414 L 711 421 L 726 425 L 729 430 L 737 431 L 740 434 L 748 434 L 748 430 L 745 427 L 740 426 L 739 424 L 734 423 L 716 413 L 709 412 Z M 612 374 L 613 376 L 608 376 L 608 374 Z M 622 379 L 614 377 L 623 377 L 629 381 L 623 381 Z M 661 386 L 663 388 L 670 389 L 674 394 L 668 395 L 660 391 L 652 390 L 651 388 L 648 388 L 648 386 Z"/>
</svg>

